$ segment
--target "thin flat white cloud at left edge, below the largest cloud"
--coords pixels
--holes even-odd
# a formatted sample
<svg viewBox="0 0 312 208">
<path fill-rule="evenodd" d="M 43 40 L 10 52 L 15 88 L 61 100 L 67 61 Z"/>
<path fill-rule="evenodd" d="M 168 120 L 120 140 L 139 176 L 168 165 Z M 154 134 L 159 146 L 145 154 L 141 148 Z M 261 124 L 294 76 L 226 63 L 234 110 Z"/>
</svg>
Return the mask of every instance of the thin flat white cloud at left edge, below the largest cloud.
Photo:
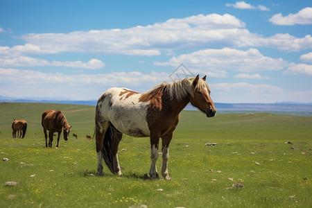
<svg viewBox="0 0 312 208">
<path fill-rule="evenodd" d="M 101 60 L 92 59 L 89 62 L 49 62 L 39 58 L 31 58 L 29 56 L 19 56 L 17 58 L 0 58 L 1 67 L 42 67 L 42 66 L 53 66 L 53 67 L 74 67 L 83 69 L 100 69 L 105 66 Z"/>
</svg>

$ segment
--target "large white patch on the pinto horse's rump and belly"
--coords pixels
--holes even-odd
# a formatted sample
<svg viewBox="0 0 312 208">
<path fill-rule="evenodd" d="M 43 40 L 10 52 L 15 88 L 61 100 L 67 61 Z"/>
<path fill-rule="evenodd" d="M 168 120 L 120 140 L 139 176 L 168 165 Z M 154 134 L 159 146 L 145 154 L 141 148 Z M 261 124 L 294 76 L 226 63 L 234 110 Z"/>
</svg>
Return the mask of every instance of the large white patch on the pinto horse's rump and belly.
<svg viewBox="0 0 312 208">
<path fill-rule="evenodd" d="M 139 102 L 141 94 L 130 89 L 113 87 L 105 92 L 101 103 L 101 114 L 105 121 L 125 135 L 149 137 L 150 130 L 146 121 L 148 102 Z"/>
</svg>

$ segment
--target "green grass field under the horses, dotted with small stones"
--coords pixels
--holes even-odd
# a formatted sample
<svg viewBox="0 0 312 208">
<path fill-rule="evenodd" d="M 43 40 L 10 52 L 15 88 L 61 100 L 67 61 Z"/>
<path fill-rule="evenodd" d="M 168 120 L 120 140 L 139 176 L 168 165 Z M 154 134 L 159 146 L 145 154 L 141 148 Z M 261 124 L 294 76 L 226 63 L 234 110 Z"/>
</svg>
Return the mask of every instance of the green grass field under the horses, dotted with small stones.
<svg viewBox="0 0 312 208">
<path fill-rule="evenodd" d="M 41 114 L 47 109 L 62 110 L 78 139 L 61 139 L 55 149 L 55 138 L 46 148 Z M 170 146 L 172 180 L 166 181 L 144 180 L 149 139 L 126 136 L 119 146 L 123 175 L 105 167 L 105 175 L 96 176 L 95 141 L 85 138 L 93 135 L 94 112 L 84 105 L 0 105 L 0 207 L 312 207 L 311 116 L 207 119 L 184 111 Z M 24 139 L 12 139 L 13 119 L 28 121 Z"/>
</svg>

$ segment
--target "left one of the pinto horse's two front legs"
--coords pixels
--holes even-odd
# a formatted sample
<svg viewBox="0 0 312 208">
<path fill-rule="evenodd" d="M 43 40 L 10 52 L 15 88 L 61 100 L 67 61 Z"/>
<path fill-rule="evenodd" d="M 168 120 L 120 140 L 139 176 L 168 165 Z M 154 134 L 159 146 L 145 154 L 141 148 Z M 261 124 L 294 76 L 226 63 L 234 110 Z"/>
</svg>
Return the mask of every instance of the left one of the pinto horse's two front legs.
<svg viewBox="0 0 312 208">
<path fill-rule="evenodd" d="M 158 159 L 158 144 L 159 144 L 159 135 L 152 135 L 150 134 L 150 146 L 151 146 L 151 151 L 150 151 L 150 159 L 152 163 L 150 164 L 150 178 L 155 179 L 159 178 L 159 175 L 157 173 L 157 168 L 156 168 L 156 162 Z"/>
</svg>

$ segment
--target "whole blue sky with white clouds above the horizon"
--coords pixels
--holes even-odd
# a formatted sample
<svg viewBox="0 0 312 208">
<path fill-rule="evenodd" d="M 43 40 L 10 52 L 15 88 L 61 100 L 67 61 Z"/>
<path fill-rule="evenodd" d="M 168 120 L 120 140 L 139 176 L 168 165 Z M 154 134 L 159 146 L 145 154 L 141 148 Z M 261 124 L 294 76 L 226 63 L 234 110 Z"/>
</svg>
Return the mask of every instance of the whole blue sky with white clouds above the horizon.
<svg viewBox="0 0 312 208">
<path fill-rule="evenodd" d="M 95 100 L 200 74 L 216 103 L 312 103 L 311 33 L 309 1 L 0 1 L 0 96 Z"/>
</svg>

